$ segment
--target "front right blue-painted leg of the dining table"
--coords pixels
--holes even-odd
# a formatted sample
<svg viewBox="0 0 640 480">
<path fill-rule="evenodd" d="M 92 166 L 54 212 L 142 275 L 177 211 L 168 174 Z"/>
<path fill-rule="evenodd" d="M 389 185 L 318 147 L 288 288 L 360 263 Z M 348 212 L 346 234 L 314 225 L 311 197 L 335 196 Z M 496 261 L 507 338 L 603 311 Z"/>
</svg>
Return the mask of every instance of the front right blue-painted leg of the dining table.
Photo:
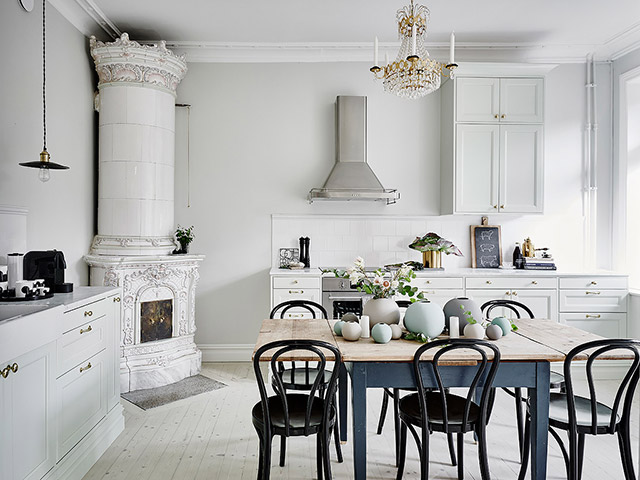
<svg viewBox="0 0 640 480">
<path fill-rule="evenodd" d="M 547 440 L 549 430 L 549 362 L 536 363 L 536 388 L 531 398 L 531 478 L 547 478 Z"/>
</svg>

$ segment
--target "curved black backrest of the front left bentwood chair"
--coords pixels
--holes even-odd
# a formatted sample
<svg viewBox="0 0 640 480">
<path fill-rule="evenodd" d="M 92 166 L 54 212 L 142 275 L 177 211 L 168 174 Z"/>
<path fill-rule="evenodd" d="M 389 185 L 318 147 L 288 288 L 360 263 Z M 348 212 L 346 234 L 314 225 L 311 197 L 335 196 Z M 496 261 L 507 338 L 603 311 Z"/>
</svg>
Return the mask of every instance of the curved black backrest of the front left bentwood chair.
<svg viewBox="0 0 640 480">
<path fill-rule="evenodd" d="M 268 354 L 269 350 L 278 349 L 272 355 Z M 329 353 L 329 358 L 324 352 Z M 265 353 L 267 355 L 265 355 Z M 300 357 L 300 354 L 302 356 Z M 290 428 L 290 416 L 289 416 L 289 406 L 287 402 L 286 390 L 283 386 L 281 374 L 278 372 L 276 368 L 277 362 L 295 360 L 294 357 L 298 357 L 300 360 L 309 360 L 309 361 L 317 361 L 322 370 L 325 369 L 327 360 L 335 362 L 334 369 L 331 373 L 331 377 L 329 382 L 326 384 L 324 388 L 322 387 L 322 382 L 324 381 L 324 377 L 321 375 L 316 376 L 315 381 L 309 391 L 306 405 L 306 414 L 305 414 L 305 424 L 304 431 L 305 435 L 310 434 L 309 431 L 309 422 L 311 418 L 311 412 L 313 407 L 313 402 L 318 401 L 319 399 L 324 400 L 324 411 L 322 422 L 323 424 L 327 424 L 329 421 L 329 415 L 331 412 L 331 408 L 333 408 L 333 400 L 335 398 L 336 388 L 338 385 L 338 371 L 340 370 L 340 365 L 342 363 L 342 357 L 340 355 L 340 351 L 330 343 L 321 342 L 319 340 L 279 340 L 275 342 L 270 342 L 262 347 L 258 348 L 256 353 L 253 356 L 253 370 L 256 375 L 256 380 L 258 382 L 258 390 L 260 391 L 260 402 L 262 405 L 262 417 L 263 424 L 265 426 L 265 438 L 268 438 L 268 435 L 271 435 L 271 415 L 269 411 L 269 396 L 267 394 L 267 388 L 264 380 L 264 376 L 262 373 L 262 369 L 260 368 L 260 361 L 263 356 L 270 356 L 271 370 L 273 372 L 273 389 L 276 393 L 276 396 L 280 399 L 282 405 L 282 412 L 284 414 L 284 422 L 285 422 L 285 435 L 289 436 L 289 428 Z M 283 358 L 284 357 L 284 358 Z"/>
</svg>

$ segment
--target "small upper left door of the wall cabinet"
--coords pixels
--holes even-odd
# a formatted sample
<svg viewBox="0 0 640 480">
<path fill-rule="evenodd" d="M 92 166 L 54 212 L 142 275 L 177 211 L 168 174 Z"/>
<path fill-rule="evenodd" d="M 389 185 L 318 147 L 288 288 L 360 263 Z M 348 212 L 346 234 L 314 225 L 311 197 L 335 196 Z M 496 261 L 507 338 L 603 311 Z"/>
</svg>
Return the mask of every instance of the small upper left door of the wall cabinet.
<svg viewBox="0 0 640 480">
<path fill-rule="evenodd" d="M 456 121 L 497 123 L 500 114 L 500 80 L 497 78 L 458 78 L 456 82 Z"/>
</svg>

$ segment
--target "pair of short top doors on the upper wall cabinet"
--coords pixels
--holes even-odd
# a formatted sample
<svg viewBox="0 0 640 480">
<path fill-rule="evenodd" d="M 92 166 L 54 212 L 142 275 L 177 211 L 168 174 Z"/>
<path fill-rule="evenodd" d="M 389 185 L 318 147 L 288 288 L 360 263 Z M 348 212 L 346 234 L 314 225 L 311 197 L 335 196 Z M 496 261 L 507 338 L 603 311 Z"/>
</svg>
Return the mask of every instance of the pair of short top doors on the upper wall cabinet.
<svg viewBox="0 0 640 480">
<path fill-rule="evenodd" d="M 456 88 L 457 122 L 543 122 L 542 78 L 461 77 Z"/>
</svg>

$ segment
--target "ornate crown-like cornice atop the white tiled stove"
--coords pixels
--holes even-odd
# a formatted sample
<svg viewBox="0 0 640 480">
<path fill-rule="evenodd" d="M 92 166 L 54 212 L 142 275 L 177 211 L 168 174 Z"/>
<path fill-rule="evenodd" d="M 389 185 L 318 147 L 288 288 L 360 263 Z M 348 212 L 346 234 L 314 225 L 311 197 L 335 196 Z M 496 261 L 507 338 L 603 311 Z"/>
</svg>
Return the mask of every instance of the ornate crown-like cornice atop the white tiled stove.
<svg viewBox="0 0 640 480">
<path fill-rule="evenodd" d="M 141 45 L 123 33 L 115 42 L 101 42 L 91 36 L 91 56 L 100 79 L 98 88 L 117 83 L 148 85 L 175 96 L 187 73 L 184 55 L 177 56 L 161 41 Z"/>
</svg>

